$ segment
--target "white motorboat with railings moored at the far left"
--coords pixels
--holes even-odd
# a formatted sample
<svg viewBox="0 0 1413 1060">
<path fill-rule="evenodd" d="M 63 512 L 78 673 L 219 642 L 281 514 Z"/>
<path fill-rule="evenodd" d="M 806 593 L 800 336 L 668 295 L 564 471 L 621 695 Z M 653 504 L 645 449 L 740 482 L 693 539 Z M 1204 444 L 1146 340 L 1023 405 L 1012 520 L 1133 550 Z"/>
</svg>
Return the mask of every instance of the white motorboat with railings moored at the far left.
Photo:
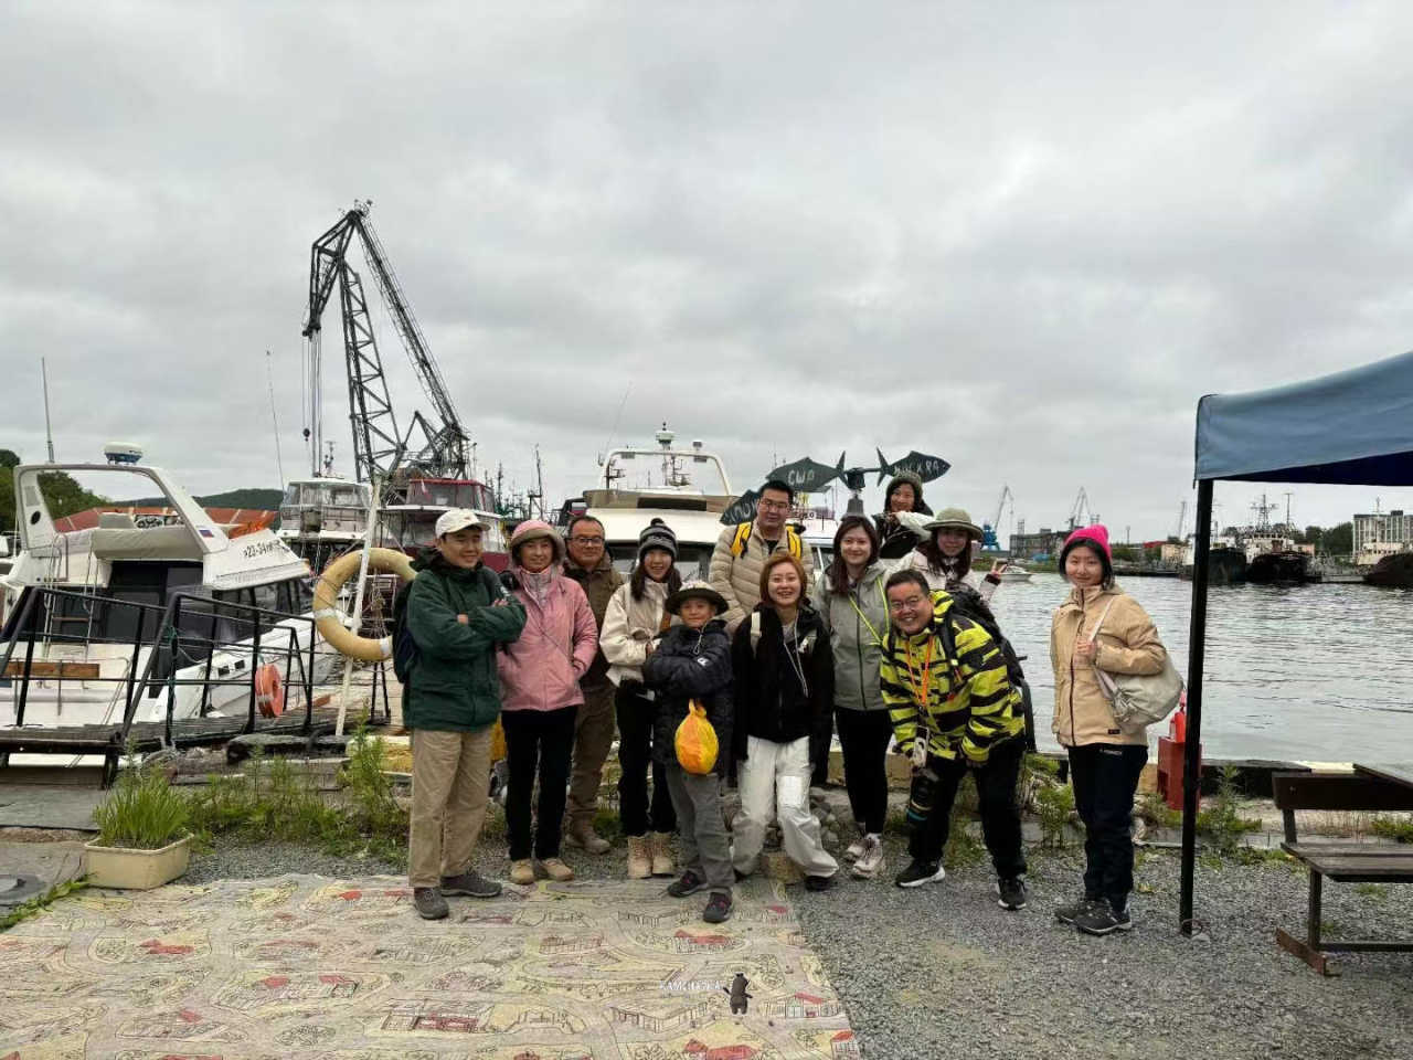
<svg viewBox="0 0 1413 1060">
<path fill-rule="evenodd" d="M 172 514 L 138 524 L 100 512 L 62 530 L 40 475 L 126 476 L 155 488 Z M 106 479 L 106 481 L 105 481 Z M 134 724 L 229 719 L 232 732 L 312 700 L 333 656 L 311 615 L 309 565 L 270 529 L 232 537 L 161 468 L 42 464 L 14 468 L 18 553 L 0 587 L 14 603 L 0 630 L 0 755 L 48 746 L 51 729 L 103 746 Z M 208 729 L 222 728 L 216 725 Z M 69 746 L 69 743 L 65 743 Z M 3 760 L 3 759 L 0 759 Z"/>
</svg>

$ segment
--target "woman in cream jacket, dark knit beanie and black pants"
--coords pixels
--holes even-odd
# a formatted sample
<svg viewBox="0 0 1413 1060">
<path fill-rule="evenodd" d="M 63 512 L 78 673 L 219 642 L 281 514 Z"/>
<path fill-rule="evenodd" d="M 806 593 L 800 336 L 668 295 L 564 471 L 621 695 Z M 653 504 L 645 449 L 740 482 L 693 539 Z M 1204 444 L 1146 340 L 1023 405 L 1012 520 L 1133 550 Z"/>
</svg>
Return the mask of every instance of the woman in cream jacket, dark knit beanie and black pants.
<svg viewBox="0 0 1413 1060">
<path fill-rule="evenodd" d="M 673 831 L 677 814 L 667 790 L 667 773 L 654 753 L 654 693 L 643 684 L 643 663 L 656 637 L 671 623 L 664 605 L 682 585 L 677 572 L 677 534 L 654 519 L 637 536 L 637 565 L 620 585 L 603 615 L 603 657 L 609 680 L 617 685 L 615 712 L 619 728 L 619 820 L 627 837 L 627 878 L 671 876 Z M 649 797 L 647 776 L 653 790 Z"/>
</svg>

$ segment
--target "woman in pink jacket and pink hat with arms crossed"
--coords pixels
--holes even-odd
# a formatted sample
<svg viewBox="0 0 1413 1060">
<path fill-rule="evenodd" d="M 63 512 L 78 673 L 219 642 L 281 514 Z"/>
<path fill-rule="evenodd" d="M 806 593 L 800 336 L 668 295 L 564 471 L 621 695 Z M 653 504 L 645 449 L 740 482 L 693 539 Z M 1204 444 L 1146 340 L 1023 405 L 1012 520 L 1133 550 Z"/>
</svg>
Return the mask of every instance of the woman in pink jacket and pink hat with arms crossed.
<svg viewBox="0 0 1413 1060">
<path fill-rule="evenodd" d="M 506 828 L 510 882 L 574 879 L 560 859 L 565 786 L 574 752 L 574 717 L 584 704 L 579 678 L 599 649 L 589 598 L 562 574 L 564 541 L 530 519 L 510 536 L 507 588 L 526 608 L 520 639 L 500 653 L 500 722 L 506 729 Z M 540 770 L 538 825 L 531 837 L 530 800 Z M 531 854 L 534 859 L 531 861 Z"/>
</svg>

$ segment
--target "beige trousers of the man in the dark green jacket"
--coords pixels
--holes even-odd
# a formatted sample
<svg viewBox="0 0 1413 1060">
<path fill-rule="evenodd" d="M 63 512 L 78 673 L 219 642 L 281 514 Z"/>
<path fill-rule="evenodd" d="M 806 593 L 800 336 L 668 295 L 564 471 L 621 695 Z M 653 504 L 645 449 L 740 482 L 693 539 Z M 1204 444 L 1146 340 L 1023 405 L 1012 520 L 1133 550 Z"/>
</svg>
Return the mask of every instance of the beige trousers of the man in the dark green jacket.
<svg viewBox="0 0 1413 1060">
<path fill-rule="evenodd" d="M 408 882 L 435 888 L 471 868 L 490 793 L 490 729 L 417 729 Z"/>
</svg>

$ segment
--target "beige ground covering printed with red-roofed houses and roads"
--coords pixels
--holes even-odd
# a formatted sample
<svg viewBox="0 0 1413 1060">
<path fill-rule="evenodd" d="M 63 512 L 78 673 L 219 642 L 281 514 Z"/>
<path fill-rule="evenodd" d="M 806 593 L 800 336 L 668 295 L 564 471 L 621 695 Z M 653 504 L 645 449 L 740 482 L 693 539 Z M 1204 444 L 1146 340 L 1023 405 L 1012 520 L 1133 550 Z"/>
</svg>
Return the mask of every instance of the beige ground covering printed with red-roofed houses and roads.
<svg viewBox="0 0 1413 1060">
<path fill-rule="evenodd" d="M 780 885 L 718 926 L 704 897 L 541 883 L 427 923 L 393 878 L 83 890 L 0 934 L 0 1060 L 858 1057 Z"/>
</svg>

